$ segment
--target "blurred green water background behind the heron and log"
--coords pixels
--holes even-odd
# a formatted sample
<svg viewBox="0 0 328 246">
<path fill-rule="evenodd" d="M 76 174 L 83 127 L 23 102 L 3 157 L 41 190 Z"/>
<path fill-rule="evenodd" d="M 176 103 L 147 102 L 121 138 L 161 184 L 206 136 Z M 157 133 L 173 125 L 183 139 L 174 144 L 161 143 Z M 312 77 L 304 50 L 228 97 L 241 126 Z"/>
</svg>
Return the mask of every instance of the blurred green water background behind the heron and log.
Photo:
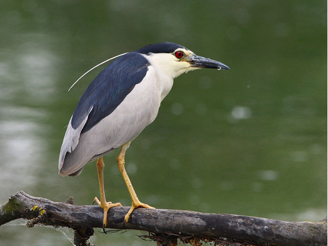
<svg viewBox="0 0 328 246">
<path fill-rule="evenodd" d="M 231 70 L 175 79 L 126 169 L 158 209 L 318 221 L 327 213 L 326 1 L 3 1 L 0 9 L 0 203 L 19 190 L 78 205 L 99 196 L 95 162 L 58 175 L 66 126 L 103 65 L 173 42 Z M 107 200 L 131 206 L 105 157 Z M 155 245 L 127 232 L 96 245 Z M 0 228 L 1 245 L 72 245 L 72 231 Z"/>
</svg>

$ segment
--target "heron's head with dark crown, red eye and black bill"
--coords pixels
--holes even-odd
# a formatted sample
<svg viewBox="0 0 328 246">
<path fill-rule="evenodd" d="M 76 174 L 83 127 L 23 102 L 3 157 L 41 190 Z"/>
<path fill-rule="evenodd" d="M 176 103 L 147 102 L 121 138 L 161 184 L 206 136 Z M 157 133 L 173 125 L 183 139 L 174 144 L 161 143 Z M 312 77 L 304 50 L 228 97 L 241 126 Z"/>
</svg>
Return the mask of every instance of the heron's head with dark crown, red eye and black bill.
<svg viewBox="0 0 328 246">
<path fill-rule="evenodd" d="M 230 69 L 219 61 L 195 55 L 187 48 L 173 43 L 148 45 L 136 52 L 145 55 L 152 66 L 171 74 L 173 78 L 201 68 Z"/>
</svg>

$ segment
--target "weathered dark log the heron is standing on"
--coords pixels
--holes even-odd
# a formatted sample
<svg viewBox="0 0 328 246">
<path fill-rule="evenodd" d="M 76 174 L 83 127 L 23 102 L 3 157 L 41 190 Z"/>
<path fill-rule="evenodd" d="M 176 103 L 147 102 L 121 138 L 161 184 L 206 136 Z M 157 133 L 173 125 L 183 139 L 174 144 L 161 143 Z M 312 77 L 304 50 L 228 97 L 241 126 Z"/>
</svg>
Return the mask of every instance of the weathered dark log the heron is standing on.
<svg viewBox="0 0 328 246">
<path fill-rule="evenodd" d="M 320 222 L 287 222 L 231 214 L 192 211 L 142 209 L 133 211 L 128 223 L 124 216 L 129 207 L 114 207 L 108 212 L 107 228 L 148 231 L 140 236 L 157 245 L 177 245 L 177 240 L 192 245 L 201 241 L 214 245 L 327 245 L 327 218 Z M 98 206 L 75 206 L 72 198 L 54 202 L 33 197 L 23 191 L 0 205 L 0 226 L 18 218 L 36 223 L 72 228 L 76 245 L 90 245 L 93 228 L 103 227 L 103 210 Z"/>
</svg>

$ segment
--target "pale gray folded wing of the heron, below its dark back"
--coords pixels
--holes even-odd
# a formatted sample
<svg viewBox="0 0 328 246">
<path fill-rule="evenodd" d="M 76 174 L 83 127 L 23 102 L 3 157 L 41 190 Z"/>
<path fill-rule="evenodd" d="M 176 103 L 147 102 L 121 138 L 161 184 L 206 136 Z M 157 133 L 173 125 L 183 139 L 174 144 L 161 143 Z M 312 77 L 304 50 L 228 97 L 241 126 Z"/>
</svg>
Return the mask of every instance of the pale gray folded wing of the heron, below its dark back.
<svg viewBox="0 0 328 246">
<path fill-rule="evenodd" d="M 146 75 L 110 115 L 87 132 L 81 133 L 89 114 L 76 130 L 70 121 L 60 150 L 59 174 L 78 175 L 86 163 L 138 136 L 158 113 L 161 90 L 154 80 Z"/>
</svg>

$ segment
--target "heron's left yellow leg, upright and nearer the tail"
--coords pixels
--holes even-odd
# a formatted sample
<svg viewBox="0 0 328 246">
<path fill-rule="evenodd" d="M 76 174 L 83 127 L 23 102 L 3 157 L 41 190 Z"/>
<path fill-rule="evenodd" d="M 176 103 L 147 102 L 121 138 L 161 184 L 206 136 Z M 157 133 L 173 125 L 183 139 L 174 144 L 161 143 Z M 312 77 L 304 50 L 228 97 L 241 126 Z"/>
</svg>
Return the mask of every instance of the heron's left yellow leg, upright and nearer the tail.
<svg viewBox="0 0 328 246">
<path fill-rule="evenodd" d="M 100 188 L 100 201 L 97 197 L 94 198 L 94 201 L 98 203 L 100 208 L 104 210 L 104 221 L 103 221 L 103 228 L 107 226 L 107 213 L 110 208 L 113 207 L 122 207 L 121 203 L 112 203 L 106 202 L 105 198 L 105 189 L 104 189 L 104 160 L 103 157 L 98 158 L 97 160 L 97 170 L 98 170 L 98 178 L 99 178 L 99 188 Z"/>
</svg>

